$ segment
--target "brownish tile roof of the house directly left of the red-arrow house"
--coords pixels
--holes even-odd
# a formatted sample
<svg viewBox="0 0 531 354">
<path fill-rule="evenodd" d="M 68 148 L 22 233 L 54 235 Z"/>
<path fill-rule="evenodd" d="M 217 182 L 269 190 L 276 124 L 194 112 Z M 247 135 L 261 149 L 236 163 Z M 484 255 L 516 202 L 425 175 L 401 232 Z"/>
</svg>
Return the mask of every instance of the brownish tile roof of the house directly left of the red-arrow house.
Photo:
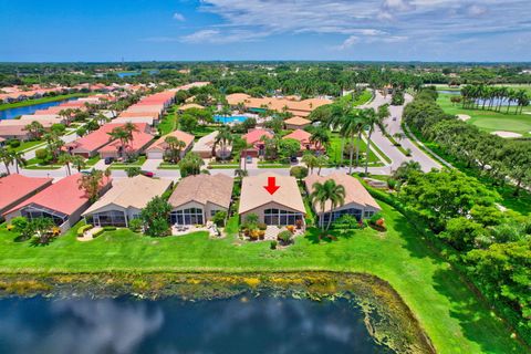
<svg viewBox="0 0 531 354">
<path fill-rule="evenodd" d="M 168 199 L 173 207 L 189 201 L 206 205 L 212 202 L 228 208 L 232 196 L 235 180 L 226 175 L 197 175 L 183 178 Z"/>
</svg>

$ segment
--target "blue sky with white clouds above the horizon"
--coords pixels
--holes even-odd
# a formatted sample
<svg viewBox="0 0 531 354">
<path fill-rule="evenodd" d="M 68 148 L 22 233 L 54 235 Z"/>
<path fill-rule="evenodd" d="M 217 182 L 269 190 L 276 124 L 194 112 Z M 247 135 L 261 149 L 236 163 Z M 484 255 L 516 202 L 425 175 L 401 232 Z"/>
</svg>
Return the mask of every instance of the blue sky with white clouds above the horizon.
<svg viewBox="0 0 531 354">
<path fill-rule="evenodd" d="M 0 0 L 0 61 L 531 61 L 530 0 Z"/>
</svg>

